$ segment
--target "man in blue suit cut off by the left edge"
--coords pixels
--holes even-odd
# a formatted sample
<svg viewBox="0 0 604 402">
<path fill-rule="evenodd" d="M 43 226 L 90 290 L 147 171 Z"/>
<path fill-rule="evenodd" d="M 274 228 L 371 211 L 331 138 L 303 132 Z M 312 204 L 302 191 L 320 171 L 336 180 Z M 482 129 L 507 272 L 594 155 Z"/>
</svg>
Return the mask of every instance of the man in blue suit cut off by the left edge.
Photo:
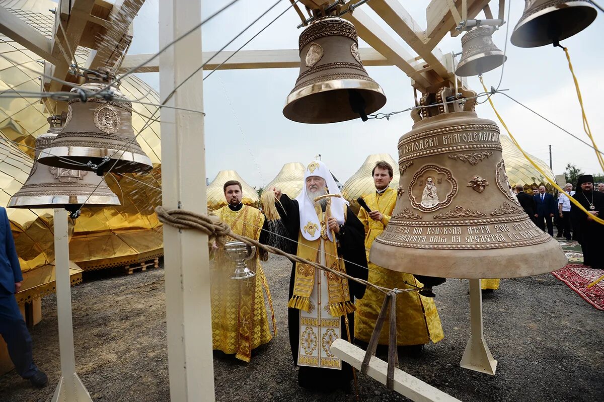
<svg viewBox="0 0 604 402">
<path fill-rule="evenodd" d="M 48 378 L 34 365 L 31 336 L 14 298 L 22 281 L 10 222 L 6 209 L 0 207 L 0 335 L 6 342 L 8 355 L 18 374 L 41 388 L 47 384 Z"/>
</svg>

